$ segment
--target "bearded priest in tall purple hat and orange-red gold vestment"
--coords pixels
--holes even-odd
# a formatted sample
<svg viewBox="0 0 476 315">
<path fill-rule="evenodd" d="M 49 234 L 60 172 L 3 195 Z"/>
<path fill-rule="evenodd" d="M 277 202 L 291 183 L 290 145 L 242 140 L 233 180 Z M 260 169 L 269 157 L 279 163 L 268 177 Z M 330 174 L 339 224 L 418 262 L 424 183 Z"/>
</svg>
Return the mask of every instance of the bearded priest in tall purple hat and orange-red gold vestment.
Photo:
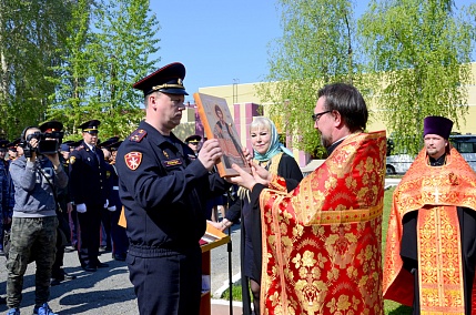
<svg viewBox="0 0 476 315">
<path fill-rule="evenodd" d="M 448 142 L 452 126 L 425 119 L 425 148 L 393 195 L 384 298 L 414 314 L 476 314 L 476 174 Z"/>
</svg>

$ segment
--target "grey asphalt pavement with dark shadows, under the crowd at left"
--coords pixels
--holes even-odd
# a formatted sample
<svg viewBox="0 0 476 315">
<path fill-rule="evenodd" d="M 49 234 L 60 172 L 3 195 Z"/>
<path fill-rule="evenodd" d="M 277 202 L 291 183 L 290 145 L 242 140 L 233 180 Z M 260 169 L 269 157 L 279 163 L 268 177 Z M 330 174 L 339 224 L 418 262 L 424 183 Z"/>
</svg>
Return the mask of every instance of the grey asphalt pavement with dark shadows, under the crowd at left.
<svg viewBox="0 0 476 315">
<path fill-rule="evenodd" d="M 239 273 L 240 257 L 240 228 L 233 227 L 232 233 L 233 251 L 233 274 Z M 230 314 L 230 302 L 220 301 L 216 296 L 220 287 L 229 278 L 229 256 L 227 246 L 221 246 L 212 251 L 212 315 Z M 102 253 L 99 257 L 101 262 L 109 263 L 108 268 L 100 268 L 95 273 L 87 273 L 79 266 L 78 253 L 67 253 L 64 256 L 64 267 L 70 274 L 78 278 L 63 282 L 51 287 L 50 307 L 58 314 L 101 314 L 101 315 L 135 315 L 138 314 L 136 298 L 129 272 L 124 262 L 113 261 L 111 253 Z M 6 258 L 0 256 L 0 295 L 4 296 L 7 268 Z M 24 284 L 23 299 L 21 303 L 21 314 L 31 314 L 34 306 L 34 263 L 28 266 Z M 160 285 L 160 284 L 158 284 Z M 237 304 L 240 305 L 240 304 Z M 235 306 L 233 314 L 242 314 L 241 307 Z M 7 313 L 7 306 L 0 305 L 0 314 Z"/>
</svg>

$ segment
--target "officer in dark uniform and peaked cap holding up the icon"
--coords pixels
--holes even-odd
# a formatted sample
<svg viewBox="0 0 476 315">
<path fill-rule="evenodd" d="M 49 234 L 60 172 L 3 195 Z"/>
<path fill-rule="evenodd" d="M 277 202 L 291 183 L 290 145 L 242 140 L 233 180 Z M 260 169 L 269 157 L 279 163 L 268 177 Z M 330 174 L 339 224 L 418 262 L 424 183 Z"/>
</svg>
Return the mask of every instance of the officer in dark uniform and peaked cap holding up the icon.
<svg viewBox="0 0 476 315">
<path fill-rule="evenodd" d="M 205 202 L 230 187 L 209 173 L 222 155 L 217 140 L 192 162 L 193 151 L 171 132 L 185 109 L 184 77 L 183 64 L 171 63 L 133 85 L 144 92 L 145 120 L 115 161 L 140 314 L 199 314 Z"/>
</svg>

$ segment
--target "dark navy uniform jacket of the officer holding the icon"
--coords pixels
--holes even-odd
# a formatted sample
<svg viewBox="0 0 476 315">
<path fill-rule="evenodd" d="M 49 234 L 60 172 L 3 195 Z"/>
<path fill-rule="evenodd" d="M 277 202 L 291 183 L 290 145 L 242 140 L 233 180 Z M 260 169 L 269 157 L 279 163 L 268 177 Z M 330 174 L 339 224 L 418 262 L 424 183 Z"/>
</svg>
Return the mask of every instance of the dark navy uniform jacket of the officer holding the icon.
<svg viewBox="0 0 476 315">
<path fill-rule="evenodd" d="M 162 256 L 199 245 L 206 200 L 230 184 L 193 159 L 175 135 L 163 136 L 144 121 L 119 148 L 115 166 L 130 254 Z"/>
</svg>

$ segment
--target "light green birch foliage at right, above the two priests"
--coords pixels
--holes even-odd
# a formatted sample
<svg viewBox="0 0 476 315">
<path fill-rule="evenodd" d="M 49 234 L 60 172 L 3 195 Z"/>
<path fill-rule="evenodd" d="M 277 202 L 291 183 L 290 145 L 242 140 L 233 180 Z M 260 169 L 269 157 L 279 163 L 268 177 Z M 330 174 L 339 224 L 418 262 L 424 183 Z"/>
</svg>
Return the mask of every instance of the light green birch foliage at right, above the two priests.
<svg viewBox="0 0 476 315">
<path fill-rule="evenodd" d="M 385 122 L 398 151 L 419 150 L 426 115 L 447 116 L 455 129 L 464 121 L 476 4 L 458 10 L 452 0 L 372 0 L 358 19 L 352 1 L 278 4 L 283 35 L 272 43 L 265 78 L 275 82 L 259 93 L 283 131 L 297 131 L 294 146 L 322 152 L 311 114 L 316 91 L 333 82 L 361 90 L 377 109 L 369 120 Z"/>
</svg>

